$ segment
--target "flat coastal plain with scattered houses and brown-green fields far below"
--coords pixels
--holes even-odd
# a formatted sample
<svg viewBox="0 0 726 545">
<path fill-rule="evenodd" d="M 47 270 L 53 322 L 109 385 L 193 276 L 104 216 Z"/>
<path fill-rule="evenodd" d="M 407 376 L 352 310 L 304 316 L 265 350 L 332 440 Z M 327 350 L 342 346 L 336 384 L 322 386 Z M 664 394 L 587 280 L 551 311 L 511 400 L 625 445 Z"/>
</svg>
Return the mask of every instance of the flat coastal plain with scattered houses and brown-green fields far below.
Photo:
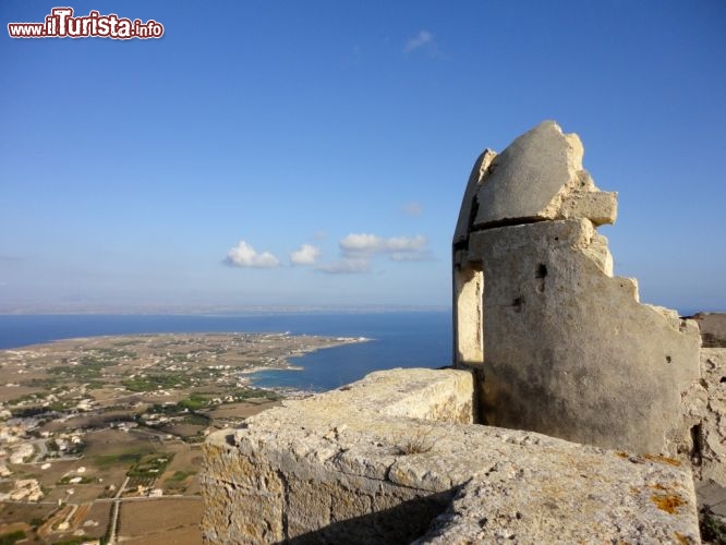
<svg viewBox="0 0 726 545">
<path fill-rule="evenodd" d="M 0 540 L 201 543 L 201 443 L 306 395 L 252 374 L 365 340 L 164 334 L 0 351 Z"/>
</svg>

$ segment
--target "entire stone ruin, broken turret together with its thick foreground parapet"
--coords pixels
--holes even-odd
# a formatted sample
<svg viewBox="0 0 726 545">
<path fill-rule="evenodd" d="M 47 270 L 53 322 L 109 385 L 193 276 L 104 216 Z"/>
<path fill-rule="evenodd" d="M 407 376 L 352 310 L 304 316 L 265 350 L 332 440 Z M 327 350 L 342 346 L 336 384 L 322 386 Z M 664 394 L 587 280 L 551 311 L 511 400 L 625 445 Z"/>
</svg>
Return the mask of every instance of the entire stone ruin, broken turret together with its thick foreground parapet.
<svg viewBox="0 0 726 545">
<path fill-rule="evenodd" d="M 211 434 L 206 543 L 700 542 L 693 474 L 726 484 L 726 350 L 613 276 L 596 228 L 616 194 L 582 155 L 554 122 L 482 154 L 453 238 L 453 368 Z"/>
</svg>

